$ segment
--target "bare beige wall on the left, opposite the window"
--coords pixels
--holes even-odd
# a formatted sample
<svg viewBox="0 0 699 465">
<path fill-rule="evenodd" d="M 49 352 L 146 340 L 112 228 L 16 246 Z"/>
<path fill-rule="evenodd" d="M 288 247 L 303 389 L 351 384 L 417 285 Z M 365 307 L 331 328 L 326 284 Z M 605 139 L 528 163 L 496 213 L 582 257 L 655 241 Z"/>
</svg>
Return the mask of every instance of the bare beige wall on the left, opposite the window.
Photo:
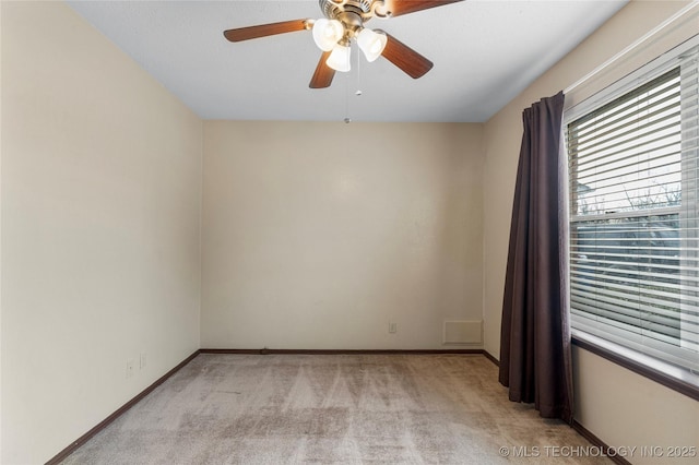
<svg viewBox="0 0 699 465">
<path fill-rule="evenodd" d="M 199 348 L 202 123 L 67 5 L 1 8 L 0 462 L 44 463 Z"/>
</svg>

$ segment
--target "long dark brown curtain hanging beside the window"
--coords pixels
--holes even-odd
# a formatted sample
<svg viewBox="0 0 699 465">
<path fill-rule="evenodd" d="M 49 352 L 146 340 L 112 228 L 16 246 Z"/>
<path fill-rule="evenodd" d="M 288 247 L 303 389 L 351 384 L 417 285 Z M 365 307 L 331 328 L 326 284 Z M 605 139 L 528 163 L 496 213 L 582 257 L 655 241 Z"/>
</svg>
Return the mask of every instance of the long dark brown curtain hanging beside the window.
<svg viewBox="0 0 699 465">
<path fill-rule="evenodd" d="M 544 418 L 572 421 L 567 314 L 564 94 L 524 110 L 502 301 L 500 383 Z"/>
</svg>

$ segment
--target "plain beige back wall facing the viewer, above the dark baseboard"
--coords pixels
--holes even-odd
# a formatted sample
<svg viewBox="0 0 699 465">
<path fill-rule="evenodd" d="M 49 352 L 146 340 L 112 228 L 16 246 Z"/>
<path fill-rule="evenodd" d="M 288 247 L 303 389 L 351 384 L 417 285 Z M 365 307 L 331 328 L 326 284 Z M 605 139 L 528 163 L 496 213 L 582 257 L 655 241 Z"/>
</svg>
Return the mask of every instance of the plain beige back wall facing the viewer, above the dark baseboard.
<svg viewBox="0 0 699 465">
<path fill-rule="evenodd" d="M 482 319 L 481 140 L 205 122 L 202 347 L 443 348 L 443 320 Z"/>
</svg>

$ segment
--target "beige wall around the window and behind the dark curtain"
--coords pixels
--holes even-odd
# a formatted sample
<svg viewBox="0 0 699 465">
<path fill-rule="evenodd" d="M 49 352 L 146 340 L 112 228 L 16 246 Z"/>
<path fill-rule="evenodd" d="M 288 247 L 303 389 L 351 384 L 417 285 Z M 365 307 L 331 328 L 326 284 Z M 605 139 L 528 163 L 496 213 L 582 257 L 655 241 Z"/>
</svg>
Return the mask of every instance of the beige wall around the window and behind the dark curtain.
<svg viewBox="0 0 699 465">
<path fill-rule="evenodd" d="M 687 2 L 633 1 L 546 72 L 485 124 L 484 178 L 485 348 L 499 357 L 500 312 L 510 212 L 525 107 L 579 81 L 672 16 Z M 567 106 L 580 102 L 699 31 L 696 16 L 656 36 L 627 58 L 578 86 Z M 577 418 L 611 445 L 698 445 L 697 402 L 606 360 L 576 349 Z M 614 406 L 614 408 L 609 408 Z M 664 408 L 667 406 L 667 408 Z M 667 460 L 666 457 L 664 458 Z M 632 457 L 632 463 L 653 463 Z M 663 460 L 655 460 L 662 463 Z"/>
</svg>

